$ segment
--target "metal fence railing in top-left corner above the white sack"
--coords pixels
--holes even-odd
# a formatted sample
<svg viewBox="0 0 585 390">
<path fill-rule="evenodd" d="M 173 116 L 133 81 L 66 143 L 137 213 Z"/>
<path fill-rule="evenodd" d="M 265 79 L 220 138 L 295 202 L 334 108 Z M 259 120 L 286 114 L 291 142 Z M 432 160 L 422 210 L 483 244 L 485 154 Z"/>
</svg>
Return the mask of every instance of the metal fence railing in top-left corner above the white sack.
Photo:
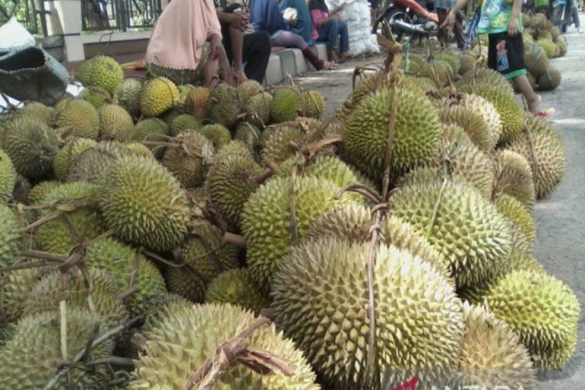
<svg viewBox="0 0 585 390">
<path fill-rule="evenodd" d="M 47 35 L 43 0 L 0 0 L 0 26 L 16 18 L 33 35 Z"/>
</svg>

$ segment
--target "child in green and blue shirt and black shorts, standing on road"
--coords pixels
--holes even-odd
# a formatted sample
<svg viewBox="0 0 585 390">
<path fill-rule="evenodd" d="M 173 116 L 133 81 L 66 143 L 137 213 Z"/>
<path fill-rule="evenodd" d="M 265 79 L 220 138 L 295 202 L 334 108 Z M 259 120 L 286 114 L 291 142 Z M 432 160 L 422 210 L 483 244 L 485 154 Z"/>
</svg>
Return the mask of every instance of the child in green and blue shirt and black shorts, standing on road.
<svg viewBox="0 0 585 390">
<path fill-rule="evenodd" d="M 467 0 L 457 0 L 443 26 L 451 27 L 455 15 L 463 8 Z M 514 82 L 528 103 L 528 111 L 545 118 L 549 111 L 541 112 L 541 97 L 537 95 L 526 78 L 524 66 L 524 39 L 522 38 L 522 18 L 520 8 L 522 0 L 483 0 L 481 18 L 477 34 L 488 34 L 490 44 L 487 64 L 493 70 L 503 74 Z"/>
</svg>

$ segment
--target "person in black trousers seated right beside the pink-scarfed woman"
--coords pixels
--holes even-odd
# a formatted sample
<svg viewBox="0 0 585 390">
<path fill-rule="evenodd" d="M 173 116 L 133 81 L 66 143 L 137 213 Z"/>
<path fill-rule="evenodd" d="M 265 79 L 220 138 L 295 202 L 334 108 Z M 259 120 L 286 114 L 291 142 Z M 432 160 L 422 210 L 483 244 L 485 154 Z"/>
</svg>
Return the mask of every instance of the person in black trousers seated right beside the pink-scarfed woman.
<svg viewBox="0 0 585 390">
<path fill-rule="evenodd" d="M 248 78 L 260 84 L 264 80 L 270 59 L 270 35 L 265 31 L 245 34 L 250 14 L 240 4 L 231 4 L 225 9 L 218 8 L 221 22 L 223 47 L 233 73 L 239 82 Z M 244 69 L 243 63 L 246 63 Z"/>
</svg>

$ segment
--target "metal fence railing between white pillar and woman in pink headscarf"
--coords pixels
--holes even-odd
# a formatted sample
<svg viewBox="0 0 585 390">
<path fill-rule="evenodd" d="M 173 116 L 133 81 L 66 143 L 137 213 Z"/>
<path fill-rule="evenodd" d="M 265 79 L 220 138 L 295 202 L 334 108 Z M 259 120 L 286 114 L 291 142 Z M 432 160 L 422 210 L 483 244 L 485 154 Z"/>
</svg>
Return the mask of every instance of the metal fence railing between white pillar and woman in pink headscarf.
<svg viewBox="0 0 585 390">
<path fill-rule="evenodd" d="M 160 0 L 81 0 L 84 31 L 149 28 L 161 12 Z"/>
</svg>

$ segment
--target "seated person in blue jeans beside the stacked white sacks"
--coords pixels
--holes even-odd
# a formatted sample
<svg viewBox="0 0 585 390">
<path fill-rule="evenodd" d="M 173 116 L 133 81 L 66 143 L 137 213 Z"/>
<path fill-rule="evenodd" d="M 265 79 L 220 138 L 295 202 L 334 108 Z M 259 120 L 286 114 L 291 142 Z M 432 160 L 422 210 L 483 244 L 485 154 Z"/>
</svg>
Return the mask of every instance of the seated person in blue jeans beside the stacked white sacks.
<svg viewBox="0 0 585 390">
<path fill-rule="evenodd" d="M 347 23 L 339 20 L 339 11 L 345 6 L 334 9 L 329 12 L 325 0 L 311 0 L 311 18 L 313 21 L 312 38 L 318 42 L 327 42 L 327 55 L 329 60 L 338 62 L 337 58 L 337 38 L 341 46 L 341 61 L 345 61 L 349 54 L 349 34 L 347 33 Z"/>
</svg>

